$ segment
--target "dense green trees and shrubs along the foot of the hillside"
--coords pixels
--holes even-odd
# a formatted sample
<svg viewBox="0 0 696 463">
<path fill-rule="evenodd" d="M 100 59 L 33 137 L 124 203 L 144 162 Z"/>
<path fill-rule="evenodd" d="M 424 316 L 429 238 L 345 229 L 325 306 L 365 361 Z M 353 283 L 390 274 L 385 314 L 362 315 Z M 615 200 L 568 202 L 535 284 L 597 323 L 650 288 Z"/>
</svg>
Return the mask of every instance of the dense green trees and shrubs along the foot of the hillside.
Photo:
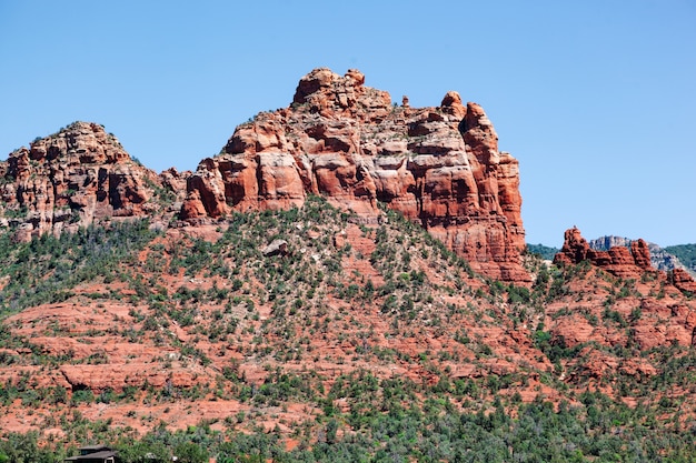
<svg viewBox="0 0 696 463">
<path fill-rule="evenodd" d="M 147 461 L 147 454 L 173 454 L 192 463 L 206 462 L 209 455 L 218 462 L 685 463 L 694 456 L 693 425 L 659 424 L 654 412 L 628 407 L 598 392 L 586 392 L 576 404 L 558 406 L 537 399 L 520 404 L 514 414 L 497 400 L 474 413 L 458 411 L 446 394 L 432 391 L 422 406 L 406 401 L 418 389 L 412 383 L 378 384 L 369 375 L 362 380 L 364 386 L 346 382 L 339 386 L 344 390 L 337 387 L 334 393 L 347 394 L 350 410 L 306 423 L 295 435 L 299 445 L 291 451 L 278 433 L 220 432 L 206 422 L 175 432 L 162 423 L 141 437 L 125 432 L 116 437 L 116 449 L 123 463 Z M 376 395 L 378 391 L 381 394 Z M 337 432 L 347 429 L 351 431 Z M 9 433 L 0 439 L 0 461 L 60 462 L 73 452 L 59 444 L 39 446 L 37 433 Z"/>
</svg>

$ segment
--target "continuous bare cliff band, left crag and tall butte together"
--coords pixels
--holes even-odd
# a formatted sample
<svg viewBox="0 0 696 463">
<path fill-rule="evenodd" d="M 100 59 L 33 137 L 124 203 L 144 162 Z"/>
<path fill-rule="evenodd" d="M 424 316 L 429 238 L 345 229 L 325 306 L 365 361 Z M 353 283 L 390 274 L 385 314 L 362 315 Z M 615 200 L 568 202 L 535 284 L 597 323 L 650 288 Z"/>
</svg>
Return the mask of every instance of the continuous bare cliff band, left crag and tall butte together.
<svg viewBox="0 0 696 463">
<path fill-rule="evenodd" d="M 150 217 L 190 224 L 248 210 L 300 207 L 310 194 L 377 222 L 380 204 L 420 223 L 496 280 L 529 282 L 518 162 L 476 103 L 392 104 L 349 70 L 316 69 L 292 103 L 237 128 L 195 173 L 161 174 L 130 158 L 103 127 L 74 122 L 0 162 L 4 227 L 28 240 L 96 221 Z M 186 188 L 185 188 L 186 184 Z M 175 221 L 175 222 L 172 222 Z"/>
</svg>

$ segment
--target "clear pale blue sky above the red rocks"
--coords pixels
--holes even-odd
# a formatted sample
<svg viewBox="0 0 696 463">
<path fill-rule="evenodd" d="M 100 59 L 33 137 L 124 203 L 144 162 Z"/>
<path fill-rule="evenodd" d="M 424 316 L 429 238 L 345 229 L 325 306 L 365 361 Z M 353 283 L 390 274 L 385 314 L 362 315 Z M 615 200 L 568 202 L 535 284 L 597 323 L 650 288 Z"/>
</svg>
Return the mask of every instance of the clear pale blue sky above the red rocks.
<svg viewBox="0 0 696 463">
<path fill-rule="evenodd" d="M 527 242 L 696 242 L 696 2 L 0 0 L 0 159 L 74 120 L 195 170 L 311 69 L 480 103 Z"/>
</svg>

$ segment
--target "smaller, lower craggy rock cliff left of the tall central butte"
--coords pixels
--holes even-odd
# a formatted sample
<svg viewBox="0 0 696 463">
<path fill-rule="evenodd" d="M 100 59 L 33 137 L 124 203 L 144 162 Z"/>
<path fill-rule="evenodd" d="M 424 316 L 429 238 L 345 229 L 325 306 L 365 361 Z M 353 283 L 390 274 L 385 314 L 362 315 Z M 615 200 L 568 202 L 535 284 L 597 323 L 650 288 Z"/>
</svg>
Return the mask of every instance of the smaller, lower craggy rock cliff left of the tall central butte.
<svg viewBox="0 0 696 463">
<path fill-rule="evenodd" d="M 2 215 L 18 238 L 86 227 L 115 217 L 153 215 L 156 190 L 183 181 L 133 161 L 102 125 L 74 122 L 10 153 L 1 172 Z M 176 191 L 176 190 L 171 190 Z"/>
</svg>

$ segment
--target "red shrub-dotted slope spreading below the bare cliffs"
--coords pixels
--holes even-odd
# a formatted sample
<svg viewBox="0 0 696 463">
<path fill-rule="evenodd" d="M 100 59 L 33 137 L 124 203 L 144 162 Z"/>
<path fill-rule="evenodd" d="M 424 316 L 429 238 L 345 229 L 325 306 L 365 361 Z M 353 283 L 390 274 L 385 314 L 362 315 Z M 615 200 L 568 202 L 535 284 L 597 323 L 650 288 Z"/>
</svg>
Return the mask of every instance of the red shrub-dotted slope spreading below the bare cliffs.
<svg viewBox="0 0 696 463">
<path fill-rule="evenodd" d="M 465 442 L 505 459 L 490 440 L 528 416 L 556 423 L 547 437 L 564 444 L 548 451 L 566 457 L 686 444 L 674 426 L 694 415 L 693 302 L 657 273 L 530 258 L 528 290 L 476 275 L 394 212 L 358 219 L 309 198 L 210 227 L 136 221 L 3 246 L 6 436 L 165 432 L 173 445 L 198 426 L 217 452 L 243 432 L 296 459 L 453 459 Z M 441 427 L 453 420 L 460 431 Z M 629 449 L 616 425 L 663 434 Z"/>
</svg>

